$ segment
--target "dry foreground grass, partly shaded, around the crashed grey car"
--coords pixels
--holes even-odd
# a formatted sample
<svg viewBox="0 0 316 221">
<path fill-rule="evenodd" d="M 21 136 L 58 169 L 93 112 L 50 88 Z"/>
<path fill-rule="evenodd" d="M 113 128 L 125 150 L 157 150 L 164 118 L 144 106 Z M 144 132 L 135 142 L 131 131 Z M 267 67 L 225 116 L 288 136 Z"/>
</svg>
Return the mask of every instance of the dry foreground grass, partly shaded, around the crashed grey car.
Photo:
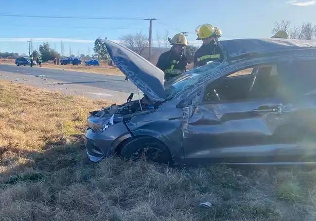
<svg viewBox="0 0 316 221">
<path fill-rule="evenodd" d="M 0 81 L 1 221 L 315 221 L 316 170 L 89 162 L 86 116 L 104 105 Z"/>
</svg>

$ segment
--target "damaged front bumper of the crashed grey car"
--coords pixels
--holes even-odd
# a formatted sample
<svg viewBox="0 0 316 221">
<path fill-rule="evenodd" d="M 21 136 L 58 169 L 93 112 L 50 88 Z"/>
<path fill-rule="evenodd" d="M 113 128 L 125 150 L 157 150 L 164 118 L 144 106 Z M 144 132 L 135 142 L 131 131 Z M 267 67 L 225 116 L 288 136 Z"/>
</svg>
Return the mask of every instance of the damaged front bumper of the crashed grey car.
<svg viewBox="0 0 316 221">
<path fill-rule="evenodd" d="M 104 157 L 112 156 L 117 146 L 131 137 L 123 122 L 116 123 L 104 132 L 94 132 L 88 128 L 85 136 L 85 146 L 89 159 L 98 162 Z"/>
</svg>

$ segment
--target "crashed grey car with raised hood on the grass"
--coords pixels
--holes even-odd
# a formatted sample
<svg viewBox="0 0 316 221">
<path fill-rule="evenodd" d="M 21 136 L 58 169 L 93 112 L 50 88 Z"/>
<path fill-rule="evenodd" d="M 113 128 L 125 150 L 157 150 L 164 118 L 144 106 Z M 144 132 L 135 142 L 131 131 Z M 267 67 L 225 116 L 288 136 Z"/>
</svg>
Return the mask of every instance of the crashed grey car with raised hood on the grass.
<svg viewBox="0 0 316 221">
<path fill-rule="evenodd" d="M 91 161 L 113 154 L 177 165 L 289 165 L 316 162 L 316 41 L 220 41 L 222 63 L 164 74 L 103 40 L 145 96 L 90 112 Z M 247 69 L 252 71 L 240 75 Z"/>
</svg>

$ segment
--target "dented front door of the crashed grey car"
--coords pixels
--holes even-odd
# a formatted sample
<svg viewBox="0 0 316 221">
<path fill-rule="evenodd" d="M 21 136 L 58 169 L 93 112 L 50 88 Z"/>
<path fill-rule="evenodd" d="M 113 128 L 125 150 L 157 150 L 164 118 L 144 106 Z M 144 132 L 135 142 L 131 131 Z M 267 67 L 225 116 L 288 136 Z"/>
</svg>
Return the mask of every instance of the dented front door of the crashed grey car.
<svg viewBox="0 0 316 221">
<path fill-rule="evenodd" d="M 267 82 L 271 80 L 270 73 L 269 68 L 256 72 L 250 84 L 240 84 L 235 90 L 230 88 L 221 101 L 215 100 L 216 92 L 213 100 L 205 100 L 210 92 L 205 91 L 199 105 L 183 108 L 183 146 L 188 164 L 275 161 L 275 153 L 283 148 L 275 138 L 275 131 L 284 120 L 285 103 L 281 98 L 270 96 L 271 91 L 275 91 L 274 85 Z M 226 78 L 224 80 L 227 81 Z M 213 85 L 215 88 L 209 87 L 211 91 L 218 85 L 223 87 L 222 84 Z M 230 82 L 229 85 L 233 84 Z M 234 96 L 234 91 L 244 88 L 249 88 L 246 97 L 242 97 L 243 93 L 240 93 L 240 98 Z M 223 88 L 220 89 L 224 94 Z M 260 90 L 262 96 L 258 97 Z M 252 93 L 257 97 L 252 97 Z"/>
</svg>

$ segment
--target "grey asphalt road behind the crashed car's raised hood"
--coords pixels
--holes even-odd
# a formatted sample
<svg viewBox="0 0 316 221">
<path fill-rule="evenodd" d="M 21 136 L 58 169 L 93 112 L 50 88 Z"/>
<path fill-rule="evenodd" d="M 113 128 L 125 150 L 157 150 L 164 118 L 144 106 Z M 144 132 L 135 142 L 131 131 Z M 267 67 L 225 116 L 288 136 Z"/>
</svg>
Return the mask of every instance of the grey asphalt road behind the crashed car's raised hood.
<svg viewBox="0 0 316 221">
<path fill-rule="evenodd" d="M 131 93 L 138 91 L 137 87 L 130 81 L 125 81 L 123 76 L 108 76 L 103 74 L 92 74 L 85 72 L 64 71 L 47 68 L 31 68 L 23 66 L 0 65 L 0 71 L 13 72 L 16 74 L 45 77 L 63 82 L 69 85 L 87 85 L 107 90 Z"/>
</svg>

